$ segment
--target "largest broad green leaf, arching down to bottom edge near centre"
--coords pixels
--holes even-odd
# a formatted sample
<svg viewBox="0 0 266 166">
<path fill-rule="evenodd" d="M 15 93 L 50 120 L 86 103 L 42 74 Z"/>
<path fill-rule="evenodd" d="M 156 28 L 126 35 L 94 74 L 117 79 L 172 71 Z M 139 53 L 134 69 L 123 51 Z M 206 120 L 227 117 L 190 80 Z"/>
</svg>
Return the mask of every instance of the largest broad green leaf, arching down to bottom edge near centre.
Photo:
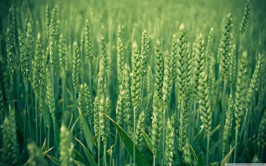
<svg viewBox="0 0 266 166">
<path fill-rule="evenodd" d="M 107 115 L 105 116 L 109 118 L 112 123 L 114 123 L 115 129 L 117 133 L 119 134 L 121 140 L 123 141 L 126 150 L 130 154 L 130 156 L 133 158 L 133 146 L 134 146 L 133 141 L 129 138 L 129 136 L 125 133 L 125 131 L 117 123 L 115 123 L 115 121 L 112 118 L 110 118 Z M 136 149 L 136 158 L 137 158 L 136 165 L 137 166 L 150 166 L 149 162 L 146 160 L 146 158 L 143 156 L 143 154 L 141 153 L 141 151 L 136 145 L 135 145 L 135 149 Z"/>
</svg>

